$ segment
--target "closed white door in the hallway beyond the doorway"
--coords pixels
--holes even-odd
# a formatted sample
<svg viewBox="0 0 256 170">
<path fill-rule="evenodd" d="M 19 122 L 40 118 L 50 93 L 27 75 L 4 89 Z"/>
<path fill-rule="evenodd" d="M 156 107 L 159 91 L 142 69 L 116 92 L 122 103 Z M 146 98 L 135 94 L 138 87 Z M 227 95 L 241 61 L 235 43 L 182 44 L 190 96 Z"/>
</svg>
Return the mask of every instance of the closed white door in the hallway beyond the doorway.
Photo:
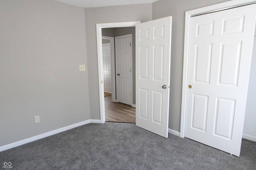
<svg viewBox="0 0 256 170">
<path fill-rule="evenodd" d="M 116 37 L 117 101 L 132 105 L 132 35 Z"/>
</svg>

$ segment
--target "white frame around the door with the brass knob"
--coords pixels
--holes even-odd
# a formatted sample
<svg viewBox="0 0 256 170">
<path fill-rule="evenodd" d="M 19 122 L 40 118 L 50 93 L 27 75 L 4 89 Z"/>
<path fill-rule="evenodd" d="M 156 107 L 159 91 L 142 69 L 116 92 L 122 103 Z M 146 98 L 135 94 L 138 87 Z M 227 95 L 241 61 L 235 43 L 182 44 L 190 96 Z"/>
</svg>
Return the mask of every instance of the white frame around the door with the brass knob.
<svg viewBox="0 0 256 170">
<path fill-rule="evenodd" d="M 188 85 L 188 50 L 189 50 L 189 31 L 190 17 L 199 14 L 207 14 L 217 12 L 224 9 L 234 8 L 238 6 L 254 4 L 255 0 L 231 0 L 220 4 L 206 6 L 195 10 L 186 11 L 185 13 L 185 38 L 184 38 L 184 61 L 183 61 L 183 84 L 182 84 L 182 107 L 180 120 L 180 137 L 185 137 L 185 116 L 186 116 L 186 101 L 187 101 L 187 85 Z"/>
</svg>

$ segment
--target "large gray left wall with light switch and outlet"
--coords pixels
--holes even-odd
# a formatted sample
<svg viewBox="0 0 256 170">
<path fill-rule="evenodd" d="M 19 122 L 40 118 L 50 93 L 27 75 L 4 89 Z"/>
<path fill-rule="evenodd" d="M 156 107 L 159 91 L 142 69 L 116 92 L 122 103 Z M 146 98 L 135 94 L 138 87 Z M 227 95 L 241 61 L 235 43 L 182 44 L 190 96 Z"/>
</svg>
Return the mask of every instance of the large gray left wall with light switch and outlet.
<svg viewBox="0 0 256 170">
<path fill-rule="evenodd" d="M 86 61 L 84 8 L 1 0 L 0 146 L 90 119 Z"/>
</svg>

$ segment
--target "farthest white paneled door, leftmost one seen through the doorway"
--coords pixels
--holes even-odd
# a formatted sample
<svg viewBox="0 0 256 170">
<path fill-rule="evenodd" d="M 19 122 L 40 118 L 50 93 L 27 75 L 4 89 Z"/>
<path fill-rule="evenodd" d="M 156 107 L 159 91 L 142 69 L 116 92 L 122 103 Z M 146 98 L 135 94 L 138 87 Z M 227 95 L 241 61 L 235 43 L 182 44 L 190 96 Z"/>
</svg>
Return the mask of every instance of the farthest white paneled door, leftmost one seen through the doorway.
<svg viewBox="0 0 256 170">
<path fill-rule="evenodd" d="M 110 43 L 102 45 L 104 92 L 112 93 Z"/>
</svg>

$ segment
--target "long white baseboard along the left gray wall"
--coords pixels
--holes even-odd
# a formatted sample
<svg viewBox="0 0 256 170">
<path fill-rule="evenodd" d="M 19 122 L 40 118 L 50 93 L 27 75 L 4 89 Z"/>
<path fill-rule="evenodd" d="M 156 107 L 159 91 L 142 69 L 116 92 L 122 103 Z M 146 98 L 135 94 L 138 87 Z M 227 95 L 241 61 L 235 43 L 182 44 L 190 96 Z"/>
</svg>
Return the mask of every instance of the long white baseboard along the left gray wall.
<svg viewBox="0 0 256 170">
<path fill-rule="evenodd" d="M 7 150 L 7 149 L 14 148 L 14 147 L 18 147 L 20 145 L 24 145 L 26 143 L 36 141 L 38 139 L 42 139 L 42 138 L 45 138 L 45 137 L 48 137 L 48 136 L 51 136 L 51 135 L 55 135 L 55 134 L 60 133 L 60 132 L 64 132 L 64 131 L 73 129 L 73 128 L 78 127 L 78 126 L 86 125 L 88 123 L 100 123 L 100 120 L 90 119 L 90 120 L 82 121 L 82 122 L 79 122 L 79 123 L 75 123 L 73 125 L 69 125 L 69 126 L 66 126 L 66 127 L 62 127 L 60 129 L 56 129 L 56 130 L 53 130 L 53 131 L 50 131 L 50 132 L 43 133 L 41 135 L 37 135 L 37 136 L 34 136 L 34 137 L 30 137 L 28 139 L 24 139 L 22 141 L 10 143 L 8 145 L 4 145 L 4 146 L 0 147 L 0 152 L 4 151 L 4 150 Z"/>
</svg>

